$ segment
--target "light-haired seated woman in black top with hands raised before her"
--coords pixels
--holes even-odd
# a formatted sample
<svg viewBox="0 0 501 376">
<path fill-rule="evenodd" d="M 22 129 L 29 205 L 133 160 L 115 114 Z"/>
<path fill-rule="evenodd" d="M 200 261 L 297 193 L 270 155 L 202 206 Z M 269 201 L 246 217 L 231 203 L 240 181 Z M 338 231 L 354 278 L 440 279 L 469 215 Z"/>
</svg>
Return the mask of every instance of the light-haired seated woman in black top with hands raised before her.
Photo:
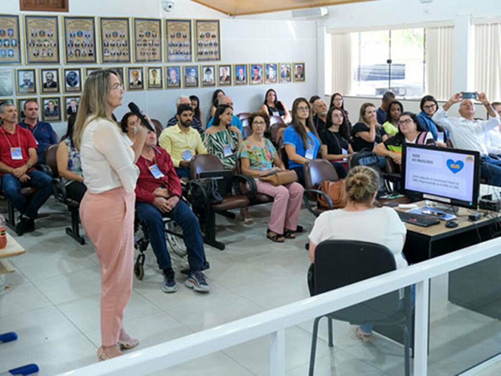
<svg viewBox="0 0 501 376">
<path fill-rule="evenodd" d="M 352 130 L 353 151 L 369 150 L 372 151 L 374 144 L 386 141 L 388 136 L 376 118 L 376 107 L 372 103 L 364 103 L 360 107 L 360 117 L 358 123 Z"/>
</svg>

